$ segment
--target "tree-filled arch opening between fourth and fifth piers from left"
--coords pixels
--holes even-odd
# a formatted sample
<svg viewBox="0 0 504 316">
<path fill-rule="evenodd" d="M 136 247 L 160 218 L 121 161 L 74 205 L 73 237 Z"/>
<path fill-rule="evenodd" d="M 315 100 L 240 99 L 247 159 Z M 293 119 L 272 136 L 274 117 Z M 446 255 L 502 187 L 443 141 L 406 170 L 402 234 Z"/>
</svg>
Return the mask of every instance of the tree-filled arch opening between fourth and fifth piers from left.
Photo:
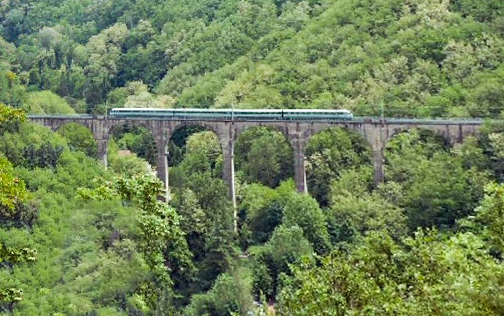
<svg viewBox="0 0 504 316">
<path fill-rule="evenodd" d="M 313 134 L 306 141 L 304 159 L 307 191 L 321 207 L 329 206 L 337 187 L 349 192 L 372 187 L 371 148 L 357 131 L 330 127 Z M 345 183 L 335 184 L 340 179 Z"/>
</svg>

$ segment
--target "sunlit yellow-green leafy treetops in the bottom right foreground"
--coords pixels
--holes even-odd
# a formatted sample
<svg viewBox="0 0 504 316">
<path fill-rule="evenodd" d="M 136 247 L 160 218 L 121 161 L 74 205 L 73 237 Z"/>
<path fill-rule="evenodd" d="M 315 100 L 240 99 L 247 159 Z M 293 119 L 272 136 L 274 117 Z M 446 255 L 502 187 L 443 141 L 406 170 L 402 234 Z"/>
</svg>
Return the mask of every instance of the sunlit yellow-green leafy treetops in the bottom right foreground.
<svg viewBox="0 0 504 316">
<path fill-rule="evenodd" d="M 295 269 L 277 313 L 497 315 L 502 272 L 471 233 L 418 231 L 402 243 L 371 233 L 348 254 L 334 252 L 321 267 Z"/>
</svg>

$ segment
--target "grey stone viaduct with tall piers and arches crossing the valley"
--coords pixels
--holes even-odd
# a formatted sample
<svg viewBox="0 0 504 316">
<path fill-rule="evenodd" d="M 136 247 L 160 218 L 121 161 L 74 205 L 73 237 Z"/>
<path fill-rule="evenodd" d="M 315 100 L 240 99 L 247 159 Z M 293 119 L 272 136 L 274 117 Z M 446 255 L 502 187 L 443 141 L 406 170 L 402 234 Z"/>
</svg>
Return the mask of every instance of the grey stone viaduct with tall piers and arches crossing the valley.
<svg viewBox="0 0 504 316">
<path fill-rule="evenodd" d="M 157 176 L 165 183 L 168 198 L 168 164 L 166 148 L 173 133 L 184 125 L 200 125 L 213 131 L 219 138 L 224 160 L 224 180 L 229 185 L 229 196 L 235 202 L 234 188 L 234 141 L 244 130 L 266 126 L 281 131 L 292 145 L 294 150 L 294 177 L 298 192 L 306 192 L 306 173 L 304 148 L 309 138 L 329 127 L 341 127 L 356 131 L 368 143 L 372 151 L 372 163 L 374 167 L 374 183 L 384 179 L 383 173 L 383 150 L 387 142 L 398 132 L 411 128 L 430 130 L 442 135 L 450 143 L 460 143 L 468 136 L 477 133 L 482 124 L 479 119 L 397 119 L 397 118 L 359 118 L 352 120 L 173 120 L 164 118 L 111 118 L 104 116 L 58 116 L 58 115 L 31 115 L 29 119 L 42 124 L 51 130 L 57 130 L 61 125 L 75 122 L 87 127 L 97 143 L 97 158 L 107 164 L 107 143 L 110 132 L 114 127 L 125 123 L 141 124 L 147 128 L 156 141 Z"/>
</svg>

